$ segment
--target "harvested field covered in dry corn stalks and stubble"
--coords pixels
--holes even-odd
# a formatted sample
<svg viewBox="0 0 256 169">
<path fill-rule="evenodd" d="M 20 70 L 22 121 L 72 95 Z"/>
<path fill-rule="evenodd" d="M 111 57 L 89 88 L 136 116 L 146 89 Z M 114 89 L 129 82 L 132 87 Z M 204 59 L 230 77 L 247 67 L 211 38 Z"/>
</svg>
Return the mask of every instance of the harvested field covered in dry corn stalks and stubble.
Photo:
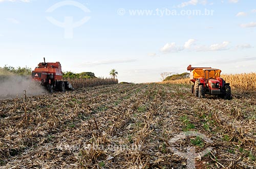
<svg viewBox="0 0 256 169">
<path fill-rule="evenodd" d="M 233 93 L 119 84 L 2 100 L 0 168 L 255 168 L 255 93 Z"/>
</svg>

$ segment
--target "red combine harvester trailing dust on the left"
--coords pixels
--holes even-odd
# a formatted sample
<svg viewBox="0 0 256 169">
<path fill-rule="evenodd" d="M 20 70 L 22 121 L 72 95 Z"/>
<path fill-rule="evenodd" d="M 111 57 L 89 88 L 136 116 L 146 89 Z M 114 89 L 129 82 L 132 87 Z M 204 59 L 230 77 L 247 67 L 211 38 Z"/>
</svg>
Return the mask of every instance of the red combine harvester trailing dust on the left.
<svg viewBox="0 0 256 169">
<path fill-rule="evenodd" d="M 73 90 L 72 85 L 68 81 L 62 81 L 62 76 L 61 64 L 59 62 L 46 63 L 45 58 L 44 62 L 39 63 L 38 67 L 32 71 L 32 78 L 40 82 L 50 93 L 53 93 L 53 90 Z"/>
</svg>

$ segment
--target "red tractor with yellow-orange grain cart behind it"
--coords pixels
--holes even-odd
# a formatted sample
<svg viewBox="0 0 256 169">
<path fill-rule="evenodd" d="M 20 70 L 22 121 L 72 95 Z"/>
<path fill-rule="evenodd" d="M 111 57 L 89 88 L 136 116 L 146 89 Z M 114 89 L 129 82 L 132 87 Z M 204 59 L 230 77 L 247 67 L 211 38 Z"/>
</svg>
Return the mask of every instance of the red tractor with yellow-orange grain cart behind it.
<svg viewBox="0 0 256 169">
<path fill-rule="evenodd" d="M 194 83 L 191 93 L 198 98 L 205 98 L 205 94 L 215 94 L 223 99 L 231 99 L 231 88 L 221 77 L 221 70 L 211 67 L 191 67 L 190 81 Z"/>
</svg>

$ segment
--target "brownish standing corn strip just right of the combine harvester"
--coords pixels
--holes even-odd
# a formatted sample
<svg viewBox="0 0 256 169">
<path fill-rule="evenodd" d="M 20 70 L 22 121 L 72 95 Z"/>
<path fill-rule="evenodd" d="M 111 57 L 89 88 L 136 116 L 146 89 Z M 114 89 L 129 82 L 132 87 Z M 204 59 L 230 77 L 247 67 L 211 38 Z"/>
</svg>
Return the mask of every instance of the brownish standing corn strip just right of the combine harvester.
<svg viewBox="0 0 256 169">
<path fill-rule="evenodd" d="M 66 79 L 69 81 L 74 89 L 79 89 L 83 87 L 93 87 L 93 86 L 101 86 L 101 85 L 110 85 L 110 84 L 118 84 L 117 79 L 104 79 L 104 78 L 77 78 L 77 79 Z"/>
</svg>

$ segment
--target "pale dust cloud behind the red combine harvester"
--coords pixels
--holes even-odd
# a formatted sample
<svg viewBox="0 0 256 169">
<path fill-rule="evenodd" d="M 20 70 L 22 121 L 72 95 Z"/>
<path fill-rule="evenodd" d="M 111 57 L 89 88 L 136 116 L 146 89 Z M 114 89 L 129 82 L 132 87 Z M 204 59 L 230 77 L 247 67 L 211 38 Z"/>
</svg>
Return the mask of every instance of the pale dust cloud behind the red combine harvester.
<svg viewBox="0 0 256 169">
<path fill-rule="evenodd" d="M 3 74 L 0 71 L 0 100 L 12 99 L 17 96 L 27 96 L 45 94 L 47 91 L 28 76 L 18 76 L 13 74 Z"/>
</svg>

